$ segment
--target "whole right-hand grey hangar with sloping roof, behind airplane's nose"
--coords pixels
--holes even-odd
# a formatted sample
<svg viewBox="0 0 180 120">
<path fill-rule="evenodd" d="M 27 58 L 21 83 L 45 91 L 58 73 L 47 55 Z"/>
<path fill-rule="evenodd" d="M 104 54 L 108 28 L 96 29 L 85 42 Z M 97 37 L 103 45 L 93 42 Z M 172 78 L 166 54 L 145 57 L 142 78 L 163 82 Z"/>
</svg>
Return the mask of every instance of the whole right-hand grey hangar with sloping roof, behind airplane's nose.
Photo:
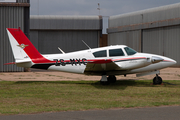
<svg viewBox="0 0 180 120">
<path fill-rule="evenodd" d="M 180 67 L 180 3 L 110 16 L 108 45 L 175 59 Z"/>
</svg>

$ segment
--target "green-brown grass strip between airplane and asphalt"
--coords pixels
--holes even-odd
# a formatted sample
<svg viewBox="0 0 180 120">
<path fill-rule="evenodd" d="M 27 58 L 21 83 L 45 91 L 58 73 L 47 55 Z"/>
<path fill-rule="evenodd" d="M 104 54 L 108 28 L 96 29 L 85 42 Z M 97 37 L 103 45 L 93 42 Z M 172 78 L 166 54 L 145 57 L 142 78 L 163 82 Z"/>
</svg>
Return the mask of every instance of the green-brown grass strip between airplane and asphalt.
<svg viewBox="0 0 180 120">
<path fill-rule="evenodd" d="M 0 115 L 180 105 L 180 81 L 0 81 Z"/>
</svg>

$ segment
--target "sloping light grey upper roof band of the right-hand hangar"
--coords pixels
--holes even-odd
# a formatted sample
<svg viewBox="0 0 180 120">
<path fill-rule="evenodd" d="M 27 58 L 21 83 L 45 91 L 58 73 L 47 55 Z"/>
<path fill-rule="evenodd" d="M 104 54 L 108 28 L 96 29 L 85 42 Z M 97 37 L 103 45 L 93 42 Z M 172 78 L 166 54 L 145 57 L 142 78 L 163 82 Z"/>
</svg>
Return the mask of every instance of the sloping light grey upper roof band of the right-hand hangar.
<svg viewBox="0 0 180 120">
<path fill-rule="evenodd" d="M 180 18 L 180 3 L 110 16 L 109 27 L 150 23 L 174 18 Z"/>
</svg>

